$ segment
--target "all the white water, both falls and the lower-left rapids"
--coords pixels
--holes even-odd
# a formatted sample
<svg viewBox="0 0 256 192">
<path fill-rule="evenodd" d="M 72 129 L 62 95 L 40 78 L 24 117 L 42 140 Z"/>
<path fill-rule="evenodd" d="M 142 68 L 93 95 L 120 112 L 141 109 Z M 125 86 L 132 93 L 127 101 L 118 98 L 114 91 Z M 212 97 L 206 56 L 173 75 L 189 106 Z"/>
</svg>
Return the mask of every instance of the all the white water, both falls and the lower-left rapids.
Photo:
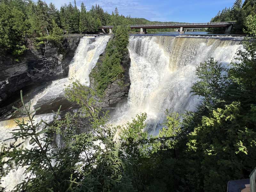
<svg viewBox="0 0 256 192">
<path fill-rule="evenodd" d="M 80 40 L 75 56 L 69 65 L 67 78 L 52 81 L 42 92 L 32 99 L 32 106 L 44 106 L 61 100 L 69 78 L 78 79 L 89 85 L 89 74 L 100 54 L 104 51 L 110 36 L 97 38 L 84 37 Z M 164 111 L 183 113 L 196 110 L 200 99 L 190 93 L 191 85 L 197 80 L 196 64 L 214 57 L 228 65 L 234 59 L 237 49 L 241 48 L 241 37 L 202 37 L 173 35 L 133 35 L 130 36 L 129 52 L 131 58 L 131 87 L 128 100 L 111 114 L 110 123 L 124 124 L 136 114 L 146 112 L 147 131 L 157 134 L 164 121 Z M 47 122 L 53 120 L 53 114 L 35 116 Z M 0 122 L 0 144 L 10 137 L 15 128 L 12 120 Z M 10 141 L 8 141 L 10 142 Z M 12 141 L 13 142 L 13 141 Z M 22 141 L 17 141 L 20 143 Z M 6 143 L 6 142 L 5 142 Z M 23 143 L 29 148 L 28 142 Z M 12 189 L 25 178 L 24 169 L 14 170 L 3 178 L 3 186 Z"/>
</svg>

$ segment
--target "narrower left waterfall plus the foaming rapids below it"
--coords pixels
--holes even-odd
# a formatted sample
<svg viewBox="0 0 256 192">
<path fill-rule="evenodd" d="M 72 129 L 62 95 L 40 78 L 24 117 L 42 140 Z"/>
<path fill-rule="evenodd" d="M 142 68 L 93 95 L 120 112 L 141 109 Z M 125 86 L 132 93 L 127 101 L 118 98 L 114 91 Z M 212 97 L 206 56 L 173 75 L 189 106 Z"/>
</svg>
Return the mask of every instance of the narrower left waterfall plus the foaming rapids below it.
<svg viewBox="0 0 256 192">
<path fill-rule="evenodd" d="M 96 38 L 83 37 L 80 39 L 79 45 L 76 49 L 75 56 L 69 65 L 69 73 L 67 78 L 52 81 L 41 93 L 37 94 L 31 100 L 31 106 L 36 104 L 43 105 L 46 102 L 54 102 L 56 98 L 62 98 L 64 95 L 65 85 L 70 83 L 70 78 L 78 79 L 82 84 L 90 85 L 89 74 L 92 68 L 96 65 L 100 54 L 105 50 L 110 36 L 99 36 Z M 25 117 L 26 119 L 26 117 Z M 54 114 L 37 115 L 34 117 L 35 123 L 41 119 L 50 123 L 54 119 Z M 10 138 L 10 132 L 15 129 L 16 124 L 13 120 L 6 120 L 0 122 L 0 148 L 1 145 L 7 142 L 14 142 L 3 140 Z M 15 144 L 23 142 L 16 141 Z M 30 148 L 28 141 L 22 144 L 23 147 Z M 12 190 L 19 182 L 25 179 L 23 175 L 25 168 L 19 167 L 17 170 L 12 170 L 6 177 L 2 178 L 2 186 L 7 187 L 7 190 Z"/>
</svg>

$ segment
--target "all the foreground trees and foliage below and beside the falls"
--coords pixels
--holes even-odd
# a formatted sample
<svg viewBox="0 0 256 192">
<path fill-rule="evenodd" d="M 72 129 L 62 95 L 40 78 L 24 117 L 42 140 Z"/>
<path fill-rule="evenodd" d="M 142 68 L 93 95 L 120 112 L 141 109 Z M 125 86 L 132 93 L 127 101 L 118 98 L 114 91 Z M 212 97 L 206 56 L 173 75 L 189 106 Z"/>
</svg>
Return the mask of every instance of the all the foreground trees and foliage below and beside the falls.
<svg viewBox="0 0 256 192">
<path fill-rule="evenodd" d="M 198 64 L 191 92 L 203 98 L 201 105 L 184 114 L 167 109 L 158 136 L 143 131 L 145 113 L 124 125 L 108 124 L 108 112 L 95 105 L 97 93 L 79 81 L 65 90 L 79 111 L 58 119 L 59 110 L 53 124 L 33 124 L 34 111 L 23 103 L 16 115 L 28 120 L 15 120 L 12 139 L 34 147 L 2 148 L 0 176 L 25 168 L 27 178 L 14 191 L 211 192 L 248 178 L 256 162 L 256 15 L 244 24 L 248 36 L 237 60 L 229 68 L 214 58 Z M 125 36 L 115 46 L 123 49 Z M 61 148 L 52 145 L 56 134 Z"/>
</svg>

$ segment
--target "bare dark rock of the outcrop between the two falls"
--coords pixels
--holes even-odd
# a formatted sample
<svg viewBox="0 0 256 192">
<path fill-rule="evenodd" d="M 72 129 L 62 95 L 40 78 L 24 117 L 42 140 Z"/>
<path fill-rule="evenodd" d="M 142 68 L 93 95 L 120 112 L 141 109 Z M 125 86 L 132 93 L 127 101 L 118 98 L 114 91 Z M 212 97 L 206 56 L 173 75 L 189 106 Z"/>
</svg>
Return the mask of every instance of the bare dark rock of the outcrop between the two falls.
<svg viewBox="0 0 256 192">
<path fill-rule="evenodd" d="M 105 52 L 103 52 L 100 55 L 100 58 L 96 66 L 94 67 L 94 70 L 96 72 L 97 72 L 98 66 L 102 64 L 104 57 L 105 57 Z M 99 101 L 98 105 L 100 107 L 103 107 L 103 108 L 115 107 L 115 105 L 118 102 L 121 102 L 128 97 L 128 93 L 131 85 L 130 76 L 129 76 L 131 59 L 128 51 L 123 54 L 121 65 L 124 68 L 124 76 L 108 85 L 108 88 L 105 90 L 104 98 L 99 98 L 99 97 L 95 98 L 96 100 Z M 96 82 L 92 78 L 91 74 L 89 75 L 89 77 L 90 77 L 90 87 L 95 90 Z"/>
</svg>

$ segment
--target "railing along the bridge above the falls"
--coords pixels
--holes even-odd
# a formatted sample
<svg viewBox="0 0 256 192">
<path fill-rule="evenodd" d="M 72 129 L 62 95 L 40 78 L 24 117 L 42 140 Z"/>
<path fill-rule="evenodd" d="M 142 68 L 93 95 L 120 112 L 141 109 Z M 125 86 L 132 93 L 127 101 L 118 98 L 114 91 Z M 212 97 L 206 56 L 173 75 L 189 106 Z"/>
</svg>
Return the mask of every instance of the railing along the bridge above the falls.
<svg viewBox="0 0 256 192">
<path fill-rule="evenodd" d="M 235 24 L 235 21 L 232 22 L 208 22 L 208 23 L 163 23 L 163 24 L 148 24 L 148 25 L 128 25 L 131 28 L 145 28 L 145 27 L 168 27 L 168 26 L 177 26 L 177 27 L 187 27 L 187 26 L 205 26 L 205 25 L 210 25 L 210 26 L 214 26 L 214 25 L 223 25 L 223 26 L 227 26 L 227 25 L 233 25 Z M 107 26 L 101 26 L 101 28 L 113 28 L 114 26 L 112 25 L 107 25 Z"/>
</svg>

